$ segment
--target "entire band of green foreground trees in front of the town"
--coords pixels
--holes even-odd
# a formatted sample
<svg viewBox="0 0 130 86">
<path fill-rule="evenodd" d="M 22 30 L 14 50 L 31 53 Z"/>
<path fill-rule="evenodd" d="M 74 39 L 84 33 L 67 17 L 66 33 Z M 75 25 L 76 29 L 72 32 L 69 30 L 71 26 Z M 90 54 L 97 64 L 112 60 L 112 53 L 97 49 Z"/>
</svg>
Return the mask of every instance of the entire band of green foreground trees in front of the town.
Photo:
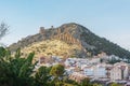
<svg viewBox="0 0 130 86">
<path fill-rule="evenodd" d="M 30 53 L 21 58 L 21 49 L 12 55 L 9 49 L 0 47 L 0 86 L 93 86 L 89 80 L 80 84 L 68 80 L 62 64 L 40 67 L 36 71 L 34 55 Z"/>
</svg>

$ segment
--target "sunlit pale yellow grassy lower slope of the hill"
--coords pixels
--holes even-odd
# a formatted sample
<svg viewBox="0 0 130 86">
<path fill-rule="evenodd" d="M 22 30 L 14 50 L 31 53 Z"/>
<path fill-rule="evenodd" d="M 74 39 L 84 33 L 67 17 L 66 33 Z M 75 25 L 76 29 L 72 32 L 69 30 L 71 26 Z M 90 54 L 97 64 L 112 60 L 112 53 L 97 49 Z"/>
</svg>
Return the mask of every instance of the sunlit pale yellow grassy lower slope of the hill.
<svg viewBox="0 0 130 86">
<path fill-rule="evenodd" d="M 24 55 L 35 52 L 36 57 L 40 56 L 60 56 L 60 57 L 81 57 L 86 55 L 82 48 L 77 44 L 68 44 L 60 40 L 46 40 L 32 43 L 22 48 Z"/>
</svg>

